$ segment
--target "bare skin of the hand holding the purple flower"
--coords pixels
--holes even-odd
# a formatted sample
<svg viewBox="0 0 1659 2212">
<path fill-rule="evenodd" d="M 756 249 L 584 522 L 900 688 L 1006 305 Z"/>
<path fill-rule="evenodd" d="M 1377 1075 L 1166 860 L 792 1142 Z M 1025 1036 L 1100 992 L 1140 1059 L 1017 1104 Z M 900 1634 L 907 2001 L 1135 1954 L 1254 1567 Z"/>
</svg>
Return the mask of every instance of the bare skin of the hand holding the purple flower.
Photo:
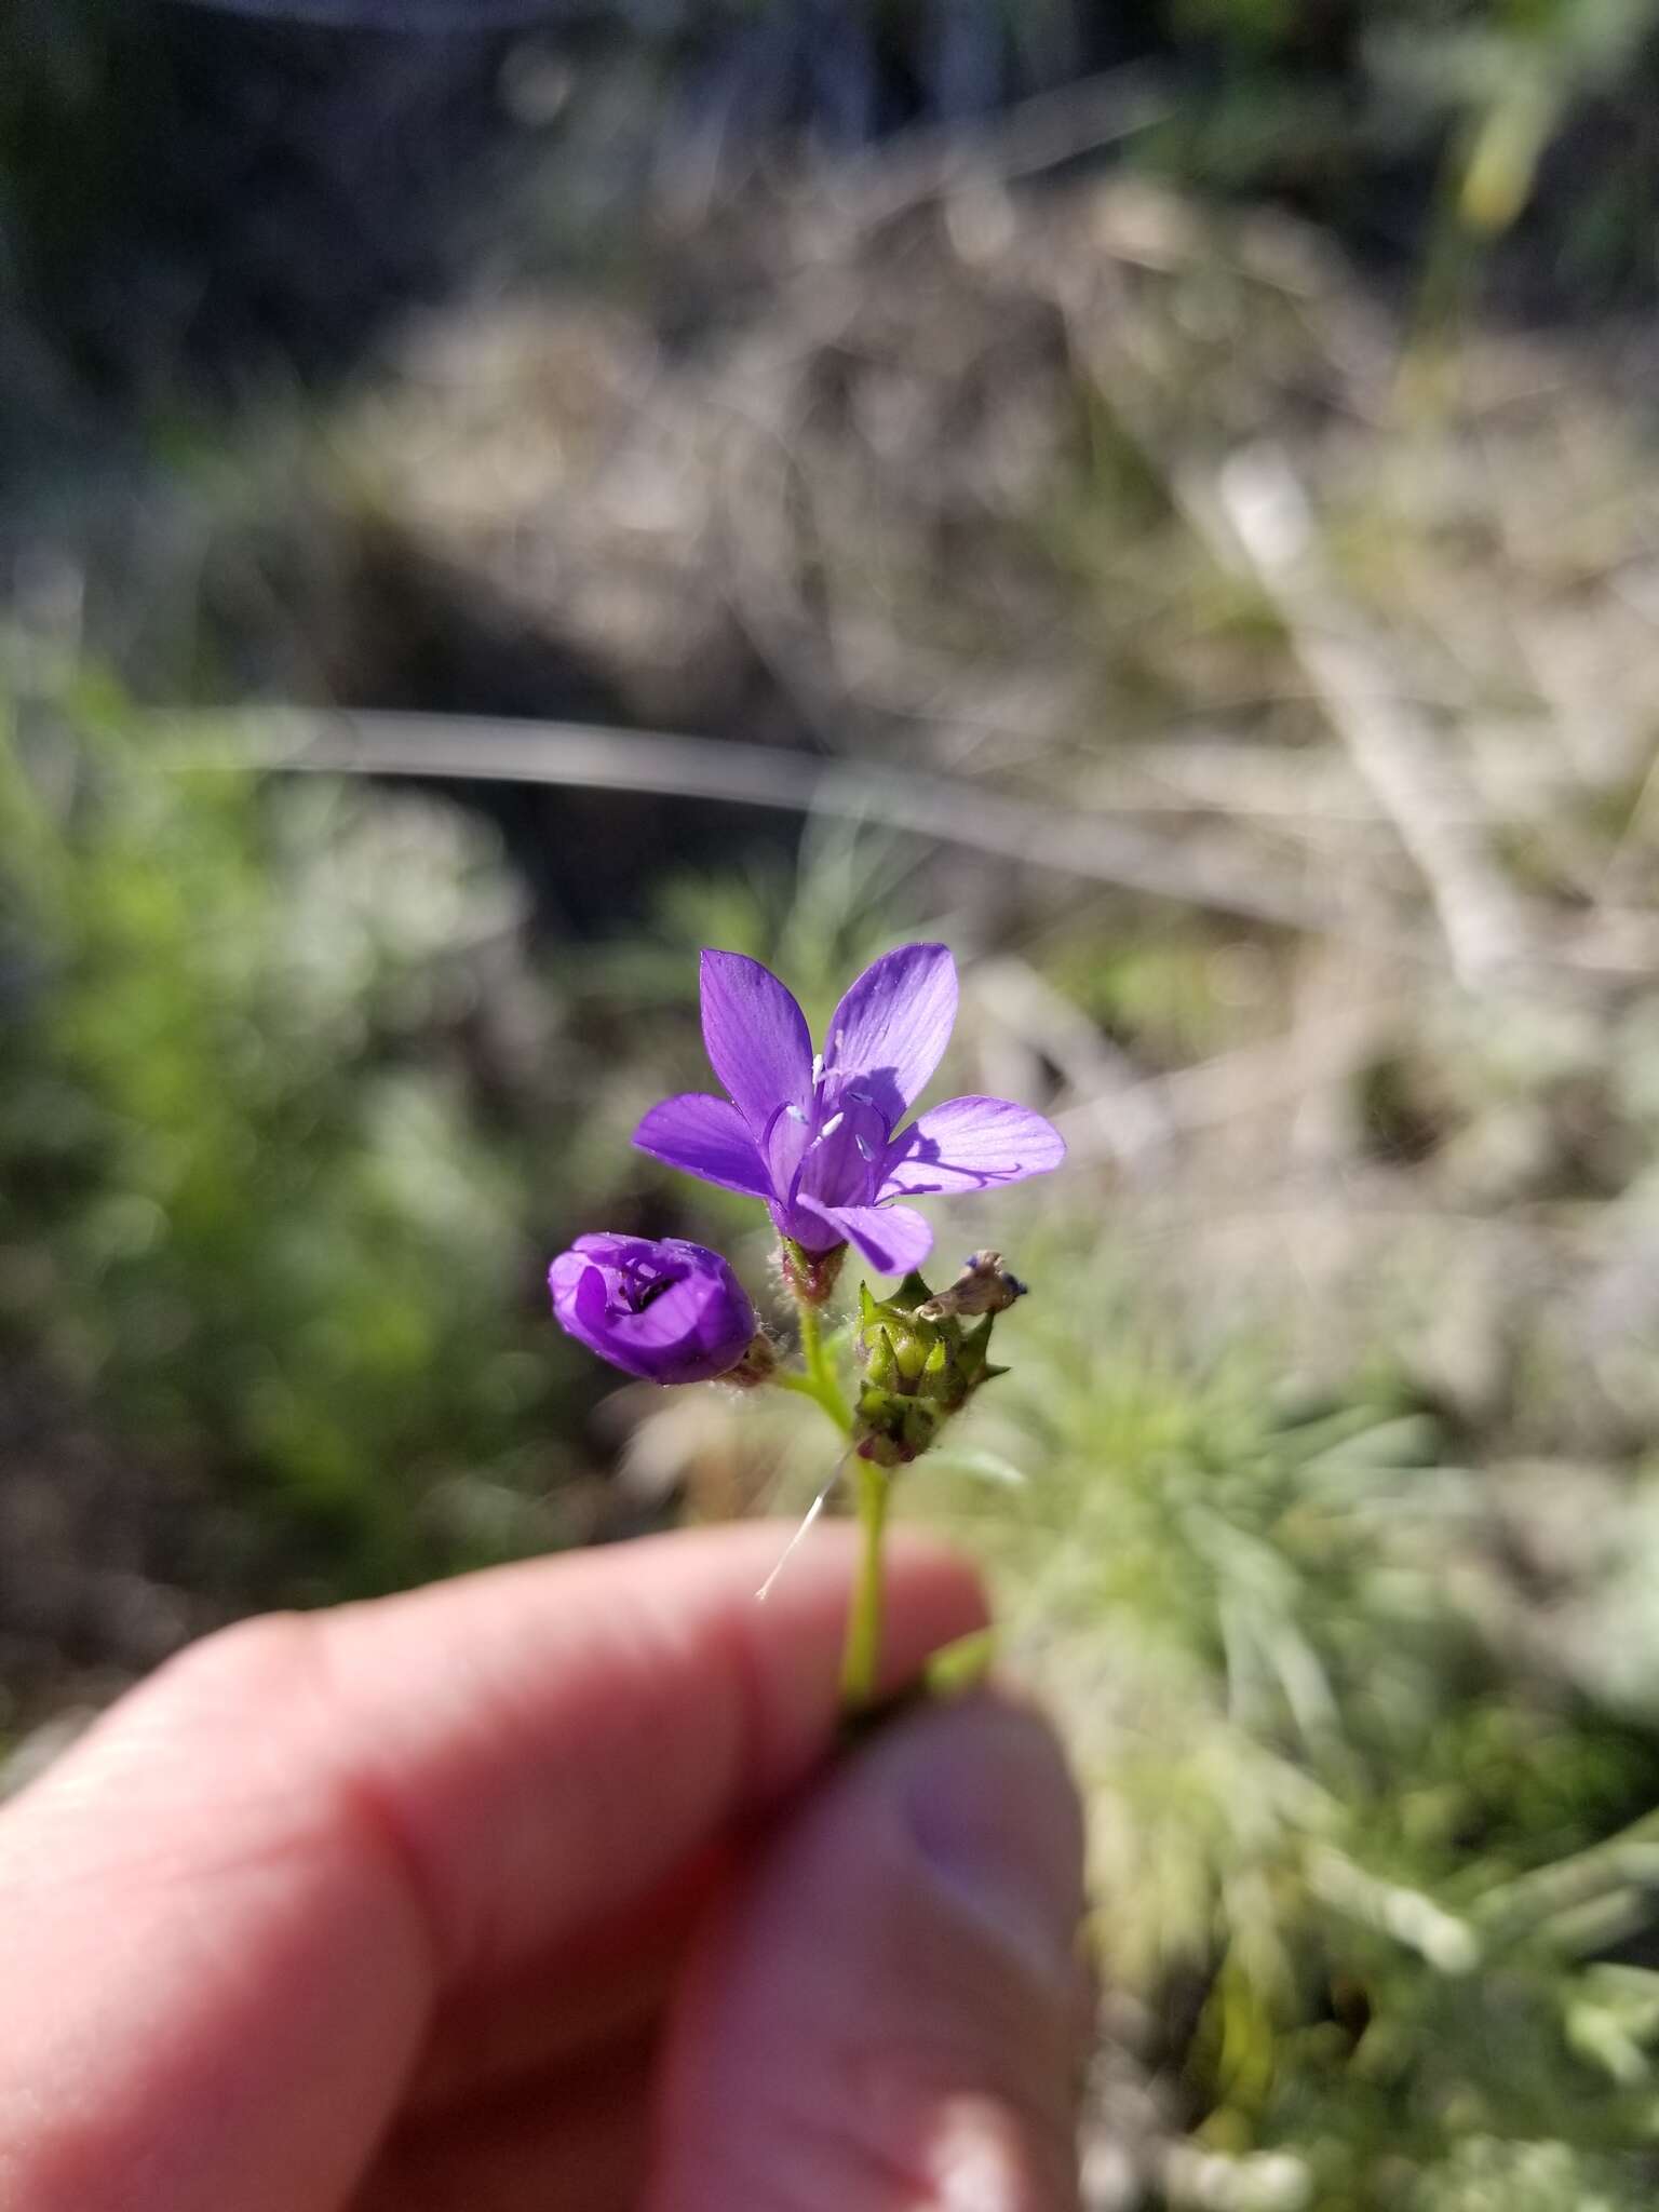
<svg viewBox="0 0 1659 2212">
<path fill-rule="evenodd" d="M 9 2212 L 1066 2212 L 1082 1834 L 971 1699 L 834 1754 L 841 1531 L 212 1637 L 0 1814 Z M 894 1544 L 889 1679 L 984 1619 Z"/>
</svg>

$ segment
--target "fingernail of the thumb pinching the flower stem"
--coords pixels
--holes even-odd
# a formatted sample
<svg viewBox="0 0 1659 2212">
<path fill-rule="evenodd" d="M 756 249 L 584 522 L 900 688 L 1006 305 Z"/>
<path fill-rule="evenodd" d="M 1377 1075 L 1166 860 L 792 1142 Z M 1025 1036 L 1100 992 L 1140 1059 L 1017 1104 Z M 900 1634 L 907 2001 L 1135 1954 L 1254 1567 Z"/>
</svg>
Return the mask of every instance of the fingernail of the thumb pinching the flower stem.
<svg viewBox="0 0 1659 2212">
<path fill-rule="evenodd" d="M 936 1887 L 1068 2000 L 1084 1832 L 1053 1734 L 991 1699 L 929 1717 L 916 1725 L 905 1805 Z"/>
</svg>

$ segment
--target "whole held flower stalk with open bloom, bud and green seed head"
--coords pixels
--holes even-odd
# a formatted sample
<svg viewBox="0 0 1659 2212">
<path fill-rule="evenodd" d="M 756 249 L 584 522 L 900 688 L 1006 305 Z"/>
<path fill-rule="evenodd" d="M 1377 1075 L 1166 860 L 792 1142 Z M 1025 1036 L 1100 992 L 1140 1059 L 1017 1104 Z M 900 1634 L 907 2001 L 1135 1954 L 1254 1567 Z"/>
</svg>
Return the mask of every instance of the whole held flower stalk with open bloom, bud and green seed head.
<svg viewBox="0 0 1659 2212">
<path fill-rule="evenodd" d="M 905 945 L 865 969 L 832 1013 L 823 1051 L 759 960 L 706 951 L 701 984 L 703 1042 L 726 1097 L 664 1099 L 635 1146 L 768 1208 L 801 1365 L 779 1360 L 730 1263 L 681 1239 L 580 1237 L 553 1263 L 553 1310 L 566 1334 L 630 1376 L 770 1385 L 810 1398 L 834 1425 L 860 1526 L 841 1690 L 849 1712 L 867 1712 L 880 1674 L 894 1478 L 1002 1374 L 989 1363 L 991 1325 L 1024 1294 L 998 1252 L 971 1254 L 947 1290 L 931 1292 L 916 1270 L 933 1232 L 900 1201 L 1046 1175 L 1066 1146 L 1011 1099 L 947 1099 L 905 1121 L 956 1018 L 945 945 Z M 849 1327 L 827 1334 L 825 1307 L 849 1250 L 902 1283 L 883 1301 L 860 1283 Z M 860 1369 L 852 1396 L 838 1374 L 847 1338 Z"/>
</svg>

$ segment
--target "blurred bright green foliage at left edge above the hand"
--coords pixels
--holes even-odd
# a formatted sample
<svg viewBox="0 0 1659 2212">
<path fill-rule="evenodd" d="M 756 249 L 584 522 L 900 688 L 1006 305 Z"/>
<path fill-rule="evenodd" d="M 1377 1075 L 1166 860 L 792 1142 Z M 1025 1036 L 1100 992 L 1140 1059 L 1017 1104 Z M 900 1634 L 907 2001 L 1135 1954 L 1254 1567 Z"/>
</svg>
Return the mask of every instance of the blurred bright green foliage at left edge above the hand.
<svg viewBox="0 0 1659 2212">
<path fill-rule="evenodd" d="M 513 898 L 458 816 L 164 743 L 84 679 L 0 734 L 0 1314 L 139 1453 L 274 1489 L 332 1586 L 403 1582 L 557 1376 L 520 1172 L 431 1053 Z"/>
</svg>

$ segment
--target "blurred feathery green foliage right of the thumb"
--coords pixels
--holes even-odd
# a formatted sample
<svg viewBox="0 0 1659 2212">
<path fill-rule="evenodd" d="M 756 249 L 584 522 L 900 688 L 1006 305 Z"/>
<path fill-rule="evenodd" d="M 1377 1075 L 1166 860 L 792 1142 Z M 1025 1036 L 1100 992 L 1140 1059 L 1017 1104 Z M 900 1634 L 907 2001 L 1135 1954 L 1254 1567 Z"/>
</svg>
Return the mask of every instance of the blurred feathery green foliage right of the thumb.
<svg viewBox="0 0 1659 2212">
<path fill-rule="evenodd" d="M 1597 1955 L 1652 1918 L 1659 1747 L 1515 1666 L 1489 1491 L 1387 1374 L 1294 1405 L 1267 1336 L 1206 1354 L 1071 1241 L 1022 1265 L 964 1442 L 1024 1484 L 905 1484 L 1066 1714 L 1108 1980 L 1225 2170 L 1192 2201 L 1263 2152 L 1296 2203 L 1635 2201 L 1659 1982 Z"/>
</svg>

